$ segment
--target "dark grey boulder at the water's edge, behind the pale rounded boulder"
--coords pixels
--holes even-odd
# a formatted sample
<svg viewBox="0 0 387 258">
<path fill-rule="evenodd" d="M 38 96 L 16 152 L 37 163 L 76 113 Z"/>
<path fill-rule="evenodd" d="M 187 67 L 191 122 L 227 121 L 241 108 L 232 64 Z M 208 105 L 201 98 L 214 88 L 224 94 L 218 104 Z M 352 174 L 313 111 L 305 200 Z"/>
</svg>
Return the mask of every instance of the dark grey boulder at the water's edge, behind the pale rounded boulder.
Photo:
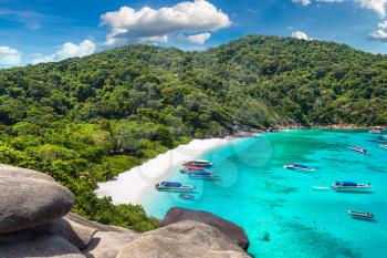
<svg viewBox="0 0 387 258">
<path fill-rule="evenodd" d="M 238 246 L 243 248 L 243 250 L 248 250 L 249 248 L 249 238 L 245 235 L 243 228 L 207 211 L 189 210 L 185 208 L 171 208 L 168 210 L 160 226 L 164 227 L 184 220 L 194 220 L 210 225 L 228 236 L 232 241 L 238 244 Z"/>
</svg>

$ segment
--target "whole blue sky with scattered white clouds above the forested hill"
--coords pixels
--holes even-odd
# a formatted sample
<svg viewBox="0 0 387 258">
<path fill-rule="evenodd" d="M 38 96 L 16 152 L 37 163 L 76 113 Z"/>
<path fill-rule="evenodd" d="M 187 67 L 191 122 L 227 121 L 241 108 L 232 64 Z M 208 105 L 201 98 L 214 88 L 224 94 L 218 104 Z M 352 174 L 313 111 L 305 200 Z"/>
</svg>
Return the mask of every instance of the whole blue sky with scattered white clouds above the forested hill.
<svg viewBox="0 0 387 258">
<path fill-rule="evenodd" d="M 134 43 L 206 50 L 248 34 L 387 54 L 387 0 L 0 0 L 0 68 Z"/>
</svg>

